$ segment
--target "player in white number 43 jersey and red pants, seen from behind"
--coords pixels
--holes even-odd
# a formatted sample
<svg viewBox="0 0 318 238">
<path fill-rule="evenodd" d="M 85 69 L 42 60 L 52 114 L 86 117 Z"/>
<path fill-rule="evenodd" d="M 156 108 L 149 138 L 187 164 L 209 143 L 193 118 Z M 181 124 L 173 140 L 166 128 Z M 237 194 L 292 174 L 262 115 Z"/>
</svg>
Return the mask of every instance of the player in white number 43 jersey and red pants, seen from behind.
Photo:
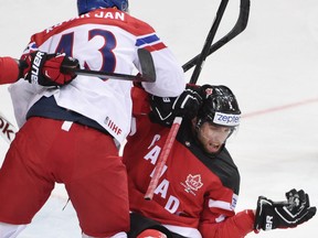
<svg viewBox="0 0 318 238">
<path fill-rule="evenodd" d="M 78 17 L 32 35 L 24 53 L 64 53 L 81 68 L 131 75 L 142 72 L 138 50 L 146 48 L 157 77 L 145 89 L 160 97 L 183 91 L 181 65 L 149 24 L 128 14 L 128 0 L 77 0 L 77 9 Z M 55 183 L 65 185 L 83 237 L 127 237 L 127 172 L 117 145 L 130 131 L 131 87 L 83 75 L 61 87 L 10 86 L 22 127 L 0 170 L 0 238 L 30 224 Z"/>
</svg>

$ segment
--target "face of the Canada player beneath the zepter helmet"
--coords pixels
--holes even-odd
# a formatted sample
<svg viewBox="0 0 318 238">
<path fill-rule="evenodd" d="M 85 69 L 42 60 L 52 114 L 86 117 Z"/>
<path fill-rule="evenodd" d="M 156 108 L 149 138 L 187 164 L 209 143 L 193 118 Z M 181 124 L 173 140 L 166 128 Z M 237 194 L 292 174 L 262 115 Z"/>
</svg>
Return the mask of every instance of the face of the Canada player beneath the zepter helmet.
<svg viewBox="0 0 318 238">
<path fill-rule="evenodd" d="M 208 153 L 216 153 L 230 133 L 230 128 L 204 122 L 198 131 L 198 139 Z"/>
</svg>

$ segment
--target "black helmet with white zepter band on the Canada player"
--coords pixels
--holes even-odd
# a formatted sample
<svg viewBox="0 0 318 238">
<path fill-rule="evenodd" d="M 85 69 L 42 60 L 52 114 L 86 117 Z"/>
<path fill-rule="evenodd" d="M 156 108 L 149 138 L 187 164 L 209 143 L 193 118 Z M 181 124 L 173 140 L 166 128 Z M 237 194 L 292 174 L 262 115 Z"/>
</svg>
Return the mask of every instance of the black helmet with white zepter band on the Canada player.
<svg viewBox="0 0 318 238">
<path fill-rule="evenodd" d="M 233 128 L 239 127 L 241 110 L 232 90 L 223 85 L 203 85 L 203 105 L 198 112 L 197 128 L 205 121 L 215 126 Z"/>
</svg>

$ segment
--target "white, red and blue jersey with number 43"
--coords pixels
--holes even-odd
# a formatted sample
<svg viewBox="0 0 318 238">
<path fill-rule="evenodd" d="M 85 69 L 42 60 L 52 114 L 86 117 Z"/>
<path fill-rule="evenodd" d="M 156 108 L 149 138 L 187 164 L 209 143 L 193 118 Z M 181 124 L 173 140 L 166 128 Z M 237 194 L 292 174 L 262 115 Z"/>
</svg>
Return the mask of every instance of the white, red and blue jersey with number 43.
<svg viewBox="0 0 318 238">
<path fill-rule="evenodd" d="M 182 67 L 155 30 L 116 9 L 98 9 L 36 33 L 24 53 L 66 53 L 77 58 L 82 68 L 136 74 L 141 71 L 138 48 L 151 53 L 156 68 L 156 83 L 142 83 L 145 89 L 161 97 L 181 94 L 186 86 Z M 77 76 L 61 88 L 28 84 L 20 80 L 9 89 L 19 126 L 36 100 L 53 95 L 60 107 L 97 121 L 120 143 L 130 130 L 131 82 Z"/>
</svg>

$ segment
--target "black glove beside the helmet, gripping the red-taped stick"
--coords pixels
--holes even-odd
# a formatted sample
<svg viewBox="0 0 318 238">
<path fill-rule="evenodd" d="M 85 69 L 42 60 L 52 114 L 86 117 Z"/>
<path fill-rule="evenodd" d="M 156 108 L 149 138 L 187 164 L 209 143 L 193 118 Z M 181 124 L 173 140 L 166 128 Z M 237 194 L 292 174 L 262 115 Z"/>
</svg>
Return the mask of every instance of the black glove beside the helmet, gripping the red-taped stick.
<svg viewBox="0 0 318 238">
<path fill-rule="evenodd" d="M 201 107 L 200 94 L 190 88 L 186 89 L 179 97 L 150 97 L 150 119 L 153 122 L 170 127 L 174 117 L 192 119 Z"/>
</svg>

